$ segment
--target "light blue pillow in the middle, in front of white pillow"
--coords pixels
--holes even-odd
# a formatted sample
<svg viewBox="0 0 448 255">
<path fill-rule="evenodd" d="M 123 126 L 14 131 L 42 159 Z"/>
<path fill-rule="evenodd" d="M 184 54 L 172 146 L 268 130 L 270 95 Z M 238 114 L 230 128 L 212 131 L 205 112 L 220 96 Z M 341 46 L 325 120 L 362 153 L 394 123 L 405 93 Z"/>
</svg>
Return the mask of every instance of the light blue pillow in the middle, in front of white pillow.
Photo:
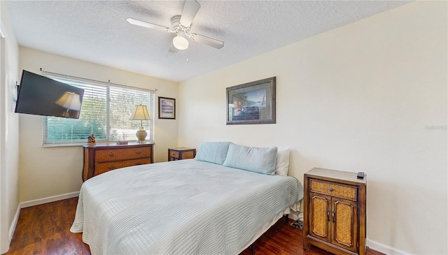
<svg viewBox="0 0 448 255">
<path fill-rule="evenodd" d="M 274 175 L 276 156 L 277 147 L 275 146 L 259 148 L 231 143 L 223 166 Z"/>
</svg>

